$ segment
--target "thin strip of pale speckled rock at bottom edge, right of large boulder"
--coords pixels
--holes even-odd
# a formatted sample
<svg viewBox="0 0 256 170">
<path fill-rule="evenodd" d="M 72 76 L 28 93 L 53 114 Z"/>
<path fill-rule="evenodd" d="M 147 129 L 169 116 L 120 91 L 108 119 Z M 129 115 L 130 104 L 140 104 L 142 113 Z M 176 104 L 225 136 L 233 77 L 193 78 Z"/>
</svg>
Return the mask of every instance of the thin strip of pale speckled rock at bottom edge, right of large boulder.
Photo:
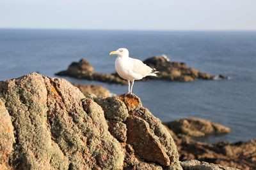
<svg viewBox="0 0 256 170">
<path fill-rule="evenodd" d="M 239 170 L 233 167 L 223 167 L 218 164 L 200 162 L 198 160 L 186 160 L 184 162 L 180 162 L 180 164 L 184 170 Z"/>
</svg>

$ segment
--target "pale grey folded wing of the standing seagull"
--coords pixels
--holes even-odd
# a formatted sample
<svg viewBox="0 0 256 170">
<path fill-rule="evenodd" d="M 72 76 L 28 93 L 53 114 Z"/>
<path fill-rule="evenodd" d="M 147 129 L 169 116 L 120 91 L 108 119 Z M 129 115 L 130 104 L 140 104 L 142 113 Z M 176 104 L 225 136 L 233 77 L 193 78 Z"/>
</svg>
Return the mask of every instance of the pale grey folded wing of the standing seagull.
<svg viewBox="0 0 256 170">
<path fill-rule="evenodd" d="M 141 60 L 132 59 L 133 68 L 132 71 L 137 74 L 141 74 L 143 77 L 149 76 L 152 73 L 153 69 L 146 64 L 144 64 Z"/>
</svg>

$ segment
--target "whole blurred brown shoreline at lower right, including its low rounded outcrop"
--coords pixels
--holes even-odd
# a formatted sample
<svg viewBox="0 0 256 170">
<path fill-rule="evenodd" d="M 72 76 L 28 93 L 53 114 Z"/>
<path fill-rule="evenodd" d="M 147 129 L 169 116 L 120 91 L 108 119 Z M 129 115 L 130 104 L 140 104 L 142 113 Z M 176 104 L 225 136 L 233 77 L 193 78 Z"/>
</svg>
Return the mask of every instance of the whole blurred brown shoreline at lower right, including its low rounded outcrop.
<svg viewBox="0 0 256 170">
<path fill-rule="evenodd" d="M 247 142 L 216 144 L 196 141 L 191 137 L 206 134 L 225 134 L 230 132 L 225 127 L 200 118 L 183 118 L 164 123 L 177 145 L 180 160 L 200 160 L 250 170 L 256 167 L 256 139 Z"/>
</svg>

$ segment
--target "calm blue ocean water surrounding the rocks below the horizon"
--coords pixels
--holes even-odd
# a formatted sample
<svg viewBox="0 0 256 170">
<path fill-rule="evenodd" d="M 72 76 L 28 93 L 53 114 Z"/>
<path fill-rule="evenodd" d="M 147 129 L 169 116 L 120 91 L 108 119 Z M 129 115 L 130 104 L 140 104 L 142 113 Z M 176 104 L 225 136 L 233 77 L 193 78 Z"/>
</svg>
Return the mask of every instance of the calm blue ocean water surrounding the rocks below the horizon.
<svg viewBox="0 0 256 170">
<path fill-rule="evenodd" d="M 144 60 L 166 54 L 173 61 L 230 80 L 189 83 L 135 82 L 134 93 L 163 122 L 199 117 L 232 129 L 229 134 L 200 140 L 216 143 L 256 138 L 256 32 L 254 31 L 79 31 L 0 29 L 0 80 L 39 71 L 47 76 L 85 58 L 101 73 L 115 71 L 108 53 L 125 47 Z M 64 77 L 63 77 L 64 78 Z M 115 94 L 127 87 L 97 81 L 68 81 L 102 85 Z"/>
</svg>

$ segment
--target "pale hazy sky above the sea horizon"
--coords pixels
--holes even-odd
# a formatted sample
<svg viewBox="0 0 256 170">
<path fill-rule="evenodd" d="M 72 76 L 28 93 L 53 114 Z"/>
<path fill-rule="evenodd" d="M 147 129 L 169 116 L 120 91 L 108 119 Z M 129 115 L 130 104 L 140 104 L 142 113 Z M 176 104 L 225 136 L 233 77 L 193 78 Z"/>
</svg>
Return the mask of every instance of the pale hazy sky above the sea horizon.
<svg viewBox="0 0 256 170">
<path fill-rule="evenodd" d="M 256 0 L 0 0 L 0 28 L 256 30 Z"/>
</svg>

